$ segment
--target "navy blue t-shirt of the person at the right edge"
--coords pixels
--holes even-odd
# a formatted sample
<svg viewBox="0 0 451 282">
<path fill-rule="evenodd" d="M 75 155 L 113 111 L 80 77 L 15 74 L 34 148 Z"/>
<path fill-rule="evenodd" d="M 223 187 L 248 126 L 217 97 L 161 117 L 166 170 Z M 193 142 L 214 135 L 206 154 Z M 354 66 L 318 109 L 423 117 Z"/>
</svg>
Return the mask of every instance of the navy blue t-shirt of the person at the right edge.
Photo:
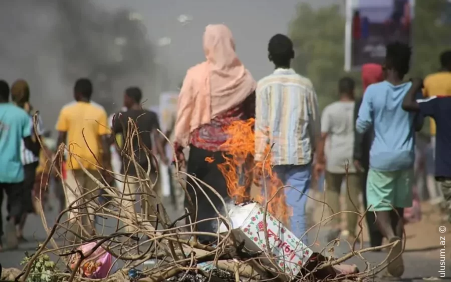
<svg viewBox="0 0 451 282">
<path fill-rule="evenodd" d="M 435 120 L 435 177 L 451 178 L 451 97 L 416 100 L 420 113 Z"/>
</svg>

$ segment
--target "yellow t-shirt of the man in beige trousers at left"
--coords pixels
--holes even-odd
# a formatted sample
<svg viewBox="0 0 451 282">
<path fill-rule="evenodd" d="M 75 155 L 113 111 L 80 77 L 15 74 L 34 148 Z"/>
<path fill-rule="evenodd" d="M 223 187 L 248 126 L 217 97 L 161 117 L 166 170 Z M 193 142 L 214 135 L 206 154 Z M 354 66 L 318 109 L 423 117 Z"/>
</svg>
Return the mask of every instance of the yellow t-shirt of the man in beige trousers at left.
<svg viewBox="0 0 451 282">
<path fill-rule="evenodd" d="M 56 130 L 67 132 L 70 160 L 67 169 L 96 169 L 101 157 L 101 136 L 110 134 L 105 110 L 98 105 L 75 102 L 65 106 L 58 117 Z"/>
</svg>

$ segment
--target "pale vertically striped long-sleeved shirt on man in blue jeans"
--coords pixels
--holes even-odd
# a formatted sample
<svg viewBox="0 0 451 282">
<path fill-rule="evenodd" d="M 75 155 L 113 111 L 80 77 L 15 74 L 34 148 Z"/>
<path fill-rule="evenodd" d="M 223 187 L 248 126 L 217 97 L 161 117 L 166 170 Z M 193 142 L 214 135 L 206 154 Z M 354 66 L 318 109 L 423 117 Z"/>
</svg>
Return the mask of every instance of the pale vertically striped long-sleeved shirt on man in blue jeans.
<svg viewBox="0 0 451 282">
<path fill-rule="evenodd" d="M 292 69 L 277 69 L 256 90 L 255 160 L 271 149 L 273 165 L 312 162 L 320 134 L 318 101 L 312 82 Z"/>
</svg>

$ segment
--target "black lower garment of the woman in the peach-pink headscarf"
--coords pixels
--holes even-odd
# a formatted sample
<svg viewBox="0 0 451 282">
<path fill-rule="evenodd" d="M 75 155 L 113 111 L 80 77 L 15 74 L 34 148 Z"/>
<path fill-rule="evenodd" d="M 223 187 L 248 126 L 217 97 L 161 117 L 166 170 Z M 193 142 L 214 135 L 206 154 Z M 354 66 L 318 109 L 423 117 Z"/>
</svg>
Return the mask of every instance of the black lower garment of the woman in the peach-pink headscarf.
<svg viewBox="0 0 451 282">
<path fill-rule="evenodd" d="M 193 175 L 205 182 L 209 186 L 213 187 L 219 195 L 221 195 L 225 202 L 230 202 L 230 197 L 227 193 L 227 183 L 222 173 L 217 168 L 217 165 L 224 162 L 222 157 L 223 152 L 211 152 L 204 149 L 200 149 L 194 146 L 190 147 L 187 173 Z M 213 158 L 214 161 L 208 163 L 205 161 L 206 157 Z M 216 209 L 225 215 L 223 204 L 221 200 L 205 185 L 200 184 L 205 194 L 211 200 Z M 186 181 L 186 189 L 188 194 L 185 196 L 185 208 L 191 212 L 190 220 L 191 222 L 196 222 L 202 219 L 215 218 L 217 213 L 215 212 L 213 206 L 208 201 L 205 194 L 199 189 L 198 184 L 191 180 L 189 177 Z M 192 201 L 192 206 L 189 202 Z M 197 210 L 197 211 L 196 211 Z M 189 223 L 189 219 L 186 221 Z M 213 232 L 217 231 L 217 220 L 212 219 L 204 222 L 200 222 L 196 226 L 199 232 Z M 214 242 L 215 238 L 211 236 L 199 235 L 197 236 L 199 242 L 207 244 Z"/>
</svg>

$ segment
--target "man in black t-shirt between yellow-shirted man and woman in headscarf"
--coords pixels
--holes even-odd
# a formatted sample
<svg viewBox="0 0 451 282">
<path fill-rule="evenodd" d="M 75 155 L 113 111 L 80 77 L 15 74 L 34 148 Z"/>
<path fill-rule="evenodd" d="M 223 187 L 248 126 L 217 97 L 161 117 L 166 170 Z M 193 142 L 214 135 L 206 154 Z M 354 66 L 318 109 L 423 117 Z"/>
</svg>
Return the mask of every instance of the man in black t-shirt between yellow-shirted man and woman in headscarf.
<svg viewBox="0 0 451 282">
<path fill-rule="evenodd" d="M 165 164 L 168 164 L 166 154 L 164 153 L 161 139 L 159 136 L 158 129 L 160 129 L 158 117 L 154 112 L 144 110 L 141 107 L 142 92 L 138 87 L 130 87 L 125 90 L 124 95 L 124 106 L 127 108 L 126 112 L 121 112 L 118 118 L 115 119 L 113 123 L 113 135 L 122 134 L 123 136 L 123 148 L 132 148 L 135 152 L 135 160 L 142 167 L 144 171 L 147 171 L 150 166 L 150 181 L 155 183 L 153 190 L 157 194 L 161 194 L 160 190 L 160 175 L 158 175 L 158 166 L 154 157 L 149 155 L 150 164 L 147 160 L 147 150 L 152 151 L 152 137 L 155 140 L 155 148 L 160 156 L 160 159 Z M 135 127 L 129 124 L 129 120 L 132 120 L 136 124 L 137 132 Z M 143 148 L 143 145 L 147 148 Z M 125 202 L 124 205 L 129 212 L 134 212 L 134 195 L 136 193 L 146 193 L 149 191 L 138 191 L 140 187 L 139 179 L 147 179 L 147 175 L 143 174 L 142 171 L 135 169 L 135 165 L 132 160 L 127 157 L 130 154 L 129 151 L 124 152 L 123 155 L 123 166 L 121 173 L 126 175 L 124 182 L 126 183 L 124 194 L 129 194 L 129 201 Z M 124 185 L 121 183 L 121 185 Z M 146 214 L 151 214 L 150 206 L 151 199 L 148 196 L 144 196 L 145 199 L 141 199 L 141 206 L 143 210 L 146 210 Z M 146 204 L 147 203 L 147 204 Z M 147 207 L 146 207 L 147 206 Z M 133 232 L 129 226 L 127 226 L 128 232 Z"/>
</svg>

